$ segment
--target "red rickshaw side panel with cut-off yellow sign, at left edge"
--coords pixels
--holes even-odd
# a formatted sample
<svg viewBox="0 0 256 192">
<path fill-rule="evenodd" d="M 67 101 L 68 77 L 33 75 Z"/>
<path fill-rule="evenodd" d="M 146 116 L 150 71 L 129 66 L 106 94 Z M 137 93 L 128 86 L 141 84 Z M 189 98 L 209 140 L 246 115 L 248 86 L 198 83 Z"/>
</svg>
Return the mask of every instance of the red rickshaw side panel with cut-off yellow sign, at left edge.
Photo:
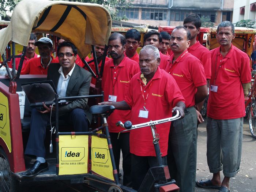
<svg viewBox="0 0 256 192">
<path fill-rule="evenodd" d="M 22 130 L 20 123 L 19 96 L 9 92 L 0 82 L 0 146 L 4 149 L 11 171 L 25 171 Z"/>
</svg>

